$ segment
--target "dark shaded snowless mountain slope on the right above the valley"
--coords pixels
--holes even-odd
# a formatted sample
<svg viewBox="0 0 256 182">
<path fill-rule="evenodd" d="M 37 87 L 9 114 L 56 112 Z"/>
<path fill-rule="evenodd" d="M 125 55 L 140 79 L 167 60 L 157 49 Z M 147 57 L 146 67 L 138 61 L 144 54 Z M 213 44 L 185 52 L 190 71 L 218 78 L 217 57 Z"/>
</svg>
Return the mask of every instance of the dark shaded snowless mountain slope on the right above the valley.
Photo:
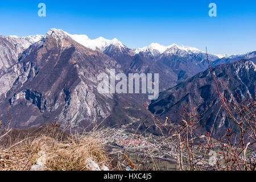
<svg viewBox="0 0 256 182">
<path fill-rule="evenodd" d="M 240 60 L 235 63 L 218 65 L 212 69 L 223 96 L 228 96 L 227 90 L 229 90 L 233 96 L 236 96 L 237 92 L 242 100 L 255 98 L 256 67 L 253 61 Z M 228 97 L 226 99 L 230 100 Z M 202 122 L 206 121 L 203 126 L 209 131 L 221 105 L 209 69 L 160 93 L 158 100 L 152 101 L 148 108 L 160 117 L 168 117 L 176 121 L 180 119 L 179 114 L 183 113 L 183 108 L 187 105 L 188 109 L 194 109 L 193 115 L 201 114 L 209 106 L 202 119 Z M 221 109 L 218 114 L 221 117 L 217 117 L 214 124 L 214 135 L 219 134 L 221 127 L 225 129 L 232 125 L 225 115 L 224 109 Z"/>
</svg>

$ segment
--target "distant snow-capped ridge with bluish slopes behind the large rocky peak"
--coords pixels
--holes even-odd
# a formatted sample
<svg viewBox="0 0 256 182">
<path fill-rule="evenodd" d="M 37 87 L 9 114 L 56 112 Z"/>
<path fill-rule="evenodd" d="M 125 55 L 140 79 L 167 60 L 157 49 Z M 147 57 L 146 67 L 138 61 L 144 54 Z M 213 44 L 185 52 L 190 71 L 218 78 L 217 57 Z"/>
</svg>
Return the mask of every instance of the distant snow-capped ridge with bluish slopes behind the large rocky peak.
<svg viewBox="0 0 256 182">
<path fill-rule="evenodd" d="M 150 46 L 132 49 L 118 39 L 108 40 L 100 37 L 92 40 L 87 35 L 72 35 L 67 32 L 65 34 L 82 46 L 112 57 L 126 74 L 159 73 L 162 91 L 208 68 L 206 53 L 193 47 L 152 43 Z M 209 55 L 210 61 L 216 59 L 218 56 Z"/>
</svg>

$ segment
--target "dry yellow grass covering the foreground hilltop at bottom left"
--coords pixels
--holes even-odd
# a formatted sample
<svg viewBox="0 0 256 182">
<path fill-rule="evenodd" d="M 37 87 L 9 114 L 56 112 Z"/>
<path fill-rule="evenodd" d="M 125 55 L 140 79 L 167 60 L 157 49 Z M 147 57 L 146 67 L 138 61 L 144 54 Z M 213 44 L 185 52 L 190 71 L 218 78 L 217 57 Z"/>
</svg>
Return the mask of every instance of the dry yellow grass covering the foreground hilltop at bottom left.
<svg viewBox="0 0 256 182">
<path fill-rule="evenodd" d="M 57 140 L 46 135 L 26 138 L 7 148 L 0 147 L 0 170 L 28 171 L 36 164 L 40 151 L 45 152 L 49 171 L 86 171 L 88 159 L 109 167 L 104 146 L 96 136 L 86 135 Z"/>
</svg>

